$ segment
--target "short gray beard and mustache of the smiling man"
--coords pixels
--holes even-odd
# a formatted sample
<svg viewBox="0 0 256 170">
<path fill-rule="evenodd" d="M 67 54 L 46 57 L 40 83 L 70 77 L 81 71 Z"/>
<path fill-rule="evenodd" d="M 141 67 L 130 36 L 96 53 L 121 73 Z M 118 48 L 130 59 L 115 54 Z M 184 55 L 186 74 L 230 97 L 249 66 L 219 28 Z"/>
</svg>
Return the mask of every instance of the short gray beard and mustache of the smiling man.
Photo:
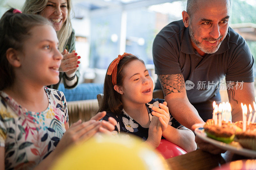
<svg viewBox="0 0 256 170">
<path fill-rule="evenodd" d="M 216 51 L 218 51 L 218 49 L 220 48 L 220 44 L 222 43 L 222 41 L 225 39 L 222 39 L 222 41 L 220 41 L 220 43 L 216 46 L 216 47 L 205 47 L 202 45 L 202 42 L 199 42 L 197 41 L 197 39 L 195 38 L 195 33 L 193 31 L 193 27 L 192 27 L 192 24 L 191 22 L 189 22 L 189 26 L 188 26 L 188 31 L 189 31 L 189 35 L 192 39 L 192 41 L 196 44 L 196 46 L 204 53 L 206 54 L 212 54 L 212 53 L 215 53 Z M 214 38 L 203 38 L 203 40 L 206 40 L 206 41 L 216 41 L 216 40 L 219 40 L 222 38 L 222 35 L 218 38 L 218 39 L 214 39 Z"/>
</svg>

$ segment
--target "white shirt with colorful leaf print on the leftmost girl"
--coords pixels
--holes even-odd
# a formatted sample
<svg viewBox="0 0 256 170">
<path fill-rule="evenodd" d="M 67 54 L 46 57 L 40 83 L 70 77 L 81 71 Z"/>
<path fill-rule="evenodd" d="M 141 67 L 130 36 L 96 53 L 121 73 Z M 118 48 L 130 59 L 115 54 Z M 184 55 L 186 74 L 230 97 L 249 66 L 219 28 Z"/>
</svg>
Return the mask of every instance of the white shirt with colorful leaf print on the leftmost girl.
<svg viewBox="0 0 256 170">
<path fill-rule="evenodd" d="M 68 109 L 62 92 L 44 88 L 48 108 L 31 112 L 0 91 L 0 146 L 5 147 L 5 169 L 32 169 L 48 156 L 66 131 Z"/>
</svg>

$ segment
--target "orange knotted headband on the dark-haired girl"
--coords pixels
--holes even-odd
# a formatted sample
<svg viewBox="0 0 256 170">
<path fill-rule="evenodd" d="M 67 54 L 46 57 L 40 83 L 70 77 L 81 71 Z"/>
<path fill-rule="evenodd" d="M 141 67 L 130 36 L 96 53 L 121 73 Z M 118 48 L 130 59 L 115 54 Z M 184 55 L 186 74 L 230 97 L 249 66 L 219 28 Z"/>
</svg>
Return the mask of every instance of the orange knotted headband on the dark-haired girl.
<svg viewBox="0 0 256 170">
<path fill-rule="evenodd" d="M 119 61 L 122 60 L 127 55 L 132 55 L 132 54 L 124 53 L 123 55 L 118 55 L 118 57 L 114 61 L 112 61 L 112 63 L 108 67 L 107 74 L 108 75 L 112 74 L 112 83 L 114 86 L 116 85 L 117 65 L 118 65 Z"/>
</svg>

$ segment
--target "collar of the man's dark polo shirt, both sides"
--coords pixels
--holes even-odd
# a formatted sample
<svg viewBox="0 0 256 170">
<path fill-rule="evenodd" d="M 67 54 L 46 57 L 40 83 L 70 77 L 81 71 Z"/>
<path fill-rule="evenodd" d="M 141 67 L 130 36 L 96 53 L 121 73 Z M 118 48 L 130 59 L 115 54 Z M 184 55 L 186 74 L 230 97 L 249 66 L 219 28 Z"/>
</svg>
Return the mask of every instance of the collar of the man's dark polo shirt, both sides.
<svg viewBox="0 0 256 170">
<path fill-rule="evenodd" d="M 229 38 L 230 38 L 230 30 L 228 27 L 228 33 L 227 33 L 226 38 L 222 41 L 218 51 L 216 51 L 216 53 L 213 53 L 213 54 L 220 54 L 220 53 L 224 53 L 225 51 L 227 51 L 229 49 L 229 46 L 228 46 Z M 192 43 L 191 43 L 188 27 L 185 27 L 185 29 L 184 29 L 184 34 L 183 34 L 182 41 L 181 41 L 180 51 L 182 53 L 186 53 L 186 54 L 196 54 L 196 51 L 193 48 Z"/>
</svg>

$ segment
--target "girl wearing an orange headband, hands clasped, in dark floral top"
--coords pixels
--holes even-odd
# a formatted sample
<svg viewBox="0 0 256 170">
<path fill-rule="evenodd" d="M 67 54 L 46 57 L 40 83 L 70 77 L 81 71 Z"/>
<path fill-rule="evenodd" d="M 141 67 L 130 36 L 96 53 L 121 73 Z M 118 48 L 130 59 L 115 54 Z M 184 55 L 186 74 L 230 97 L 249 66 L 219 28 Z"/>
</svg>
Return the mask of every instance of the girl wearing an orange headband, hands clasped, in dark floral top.
<svg viewBox="0 0 256 170">
<path fill-rule="evenodd" d="M 124 53 L 108 67 L 99 111 L 107 111 L 103 120 L 116 119 L 116 134 L 134 134 L 153 147 L 166 138 L 187 152 L 195 150 L 194 133 L 171 116 L 163 99 L 152 95 L 153 81 L 144 61 Z"/>
</svg>

